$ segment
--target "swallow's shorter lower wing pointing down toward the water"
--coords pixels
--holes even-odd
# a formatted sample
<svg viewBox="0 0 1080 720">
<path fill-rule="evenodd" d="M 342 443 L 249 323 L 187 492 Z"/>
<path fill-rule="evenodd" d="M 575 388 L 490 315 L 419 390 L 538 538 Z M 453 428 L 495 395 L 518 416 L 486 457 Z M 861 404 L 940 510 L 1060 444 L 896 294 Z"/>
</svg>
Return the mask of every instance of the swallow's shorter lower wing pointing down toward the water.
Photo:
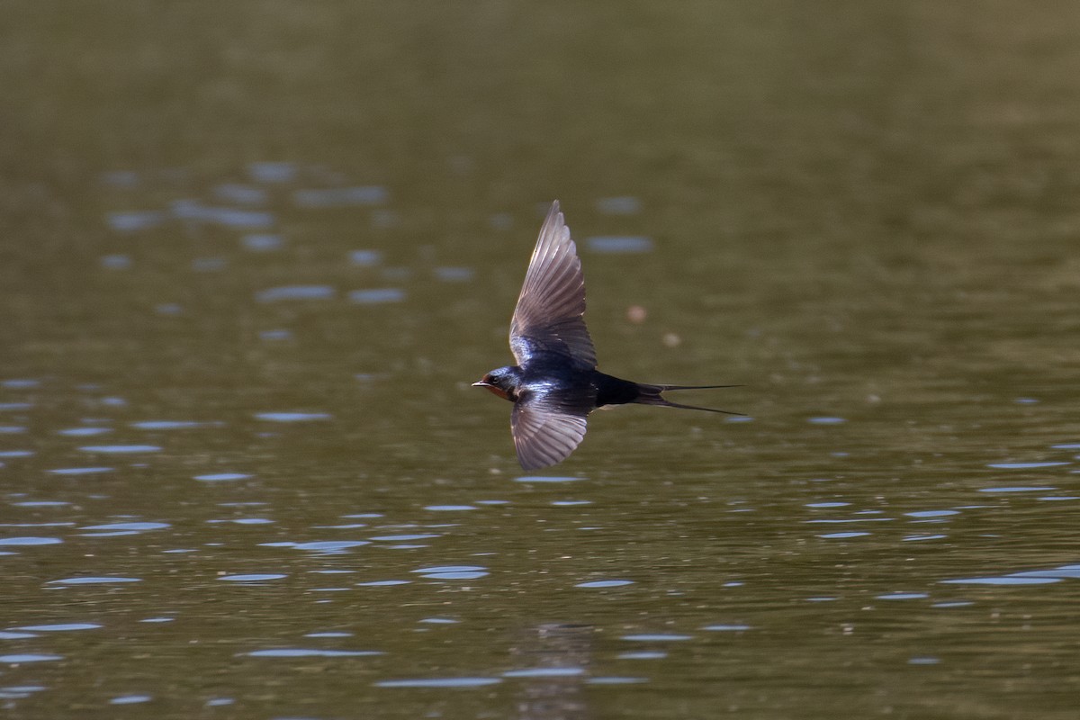
<svg viewBox="0 0 1080 720">
<path fill-rule="evenodd" d="M 565 391 L 525 393 L 510 417 L 517 460 L 538 470 L 566 460 L 585 437 L 593 399 Z"/>
</svg>

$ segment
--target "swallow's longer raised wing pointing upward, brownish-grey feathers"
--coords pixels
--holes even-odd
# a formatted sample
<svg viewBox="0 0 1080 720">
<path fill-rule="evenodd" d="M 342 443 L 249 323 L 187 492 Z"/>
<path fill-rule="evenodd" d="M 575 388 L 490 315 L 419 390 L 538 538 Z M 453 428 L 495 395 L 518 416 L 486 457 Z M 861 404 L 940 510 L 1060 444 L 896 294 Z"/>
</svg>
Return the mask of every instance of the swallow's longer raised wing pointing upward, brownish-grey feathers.
<svg viewBox="0 0 1080 720">
<path fill-rule="evenodd" d="M 556 200 L 540 228 L 510 324 L 510 349 L 517 364 L 537 354 L 555 354 L 577 367 L 596 367 L 596 350 L 582 318 L 584 312 L 581 260 Z"/>
</svg>

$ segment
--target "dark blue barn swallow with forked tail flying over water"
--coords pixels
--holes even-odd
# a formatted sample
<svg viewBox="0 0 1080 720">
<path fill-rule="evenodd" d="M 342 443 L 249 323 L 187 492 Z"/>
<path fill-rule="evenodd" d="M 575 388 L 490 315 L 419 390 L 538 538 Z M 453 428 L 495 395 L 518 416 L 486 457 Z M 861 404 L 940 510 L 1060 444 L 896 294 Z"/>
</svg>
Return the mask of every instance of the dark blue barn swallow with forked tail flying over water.
<svg viewBox="0 0 1080 720">
<path fill-rule="evenodd" d="M 514 404 L 510 429 L 525 470 L 566 460 L 585 436 L 585 418 L 606 405 L 637 403 L 740 415 L 661 396 L 669 390 L 734 385 L 654 385 L 600 372 L 584 312 L 581 259 L 556 200 L 540 228 L 510 323 L 510 350 L 517 365 L 491 370 L 472 383 Z"/>
</svg>

